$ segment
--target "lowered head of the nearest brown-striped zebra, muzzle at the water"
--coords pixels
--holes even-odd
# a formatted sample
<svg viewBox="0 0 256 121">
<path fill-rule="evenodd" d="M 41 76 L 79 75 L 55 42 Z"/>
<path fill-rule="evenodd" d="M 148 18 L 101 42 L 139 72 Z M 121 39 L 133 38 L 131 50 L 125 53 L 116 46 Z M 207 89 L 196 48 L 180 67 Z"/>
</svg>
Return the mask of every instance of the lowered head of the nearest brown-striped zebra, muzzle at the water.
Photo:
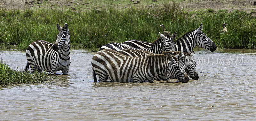
<svg viewBox="0 0 256 121">
<path fill-rule="evenodd" d="M 168 53 L 168 59 L 171 61 L 170 63 L 170 75 L 178 80 L 180 82 L 188 82 L 189 78 L 186 72 L 182 69 L 180 63 L 177 60 L 177 57 L 179 54 L 172 56 L 171 53 Z"/>
</svg>

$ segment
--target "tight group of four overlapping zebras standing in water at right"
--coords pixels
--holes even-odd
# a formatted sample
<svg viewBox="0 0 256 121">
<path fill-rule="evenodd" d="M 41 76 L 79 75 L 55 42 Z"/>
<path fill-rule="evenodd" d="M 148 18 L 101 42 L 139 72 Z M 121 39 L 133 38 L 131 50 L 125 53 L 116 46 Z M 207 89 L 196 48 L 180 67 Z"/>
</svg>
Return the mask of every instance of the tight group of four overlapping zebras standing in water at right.
<svg viewBox="0 0 256 121">
<path fill-rule="evenodd" d="M 177 34 L 160 34 L 153 43 L 129 40 L 108 43 L 92 57 L 93 78 L 97 82 L 152 82 L 176 78 L 188 82 L 198 79 L 194 61 L 196 46 L 211 52 L 217 49 L 212 40 L 198 29 L 191 30 L 173 42 Z M 108 80 L 109 79 L 109 80 Z"/>
</svg>

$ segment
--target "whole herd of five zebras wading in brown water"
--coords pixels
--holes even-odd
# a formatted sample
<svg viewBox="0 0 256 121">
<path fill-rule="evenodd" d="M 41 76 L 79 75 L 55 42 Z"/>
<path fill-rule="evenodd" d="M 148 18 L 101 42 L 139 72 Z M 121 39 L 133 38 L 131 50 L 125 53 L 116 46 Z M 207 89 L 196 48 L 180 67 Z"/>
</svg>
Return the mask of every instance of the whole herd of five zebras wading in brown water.
<svg viewBox="0 0 256 121">
<path fill-rule="evenodd" d="M 54 44 L 32 42 L 27 50 L 25 71 L 38 70 L 68 74 L 70 65 L 70 35 L 68 24 L 60 27 Z M 175 40 L 177 34 L 160 34 L 153 43 L 128 40 L 121 44 L 108 43 L 92 57 L 94 82 L 152 82 L 176 78 L 181 82 L 198 79 L 194 61 L 196 46 L 215 51 L 217 46 L 203 32 L 203 24 Z M 109 79 L 109 80 L 108 80 Z"/>
</svg>

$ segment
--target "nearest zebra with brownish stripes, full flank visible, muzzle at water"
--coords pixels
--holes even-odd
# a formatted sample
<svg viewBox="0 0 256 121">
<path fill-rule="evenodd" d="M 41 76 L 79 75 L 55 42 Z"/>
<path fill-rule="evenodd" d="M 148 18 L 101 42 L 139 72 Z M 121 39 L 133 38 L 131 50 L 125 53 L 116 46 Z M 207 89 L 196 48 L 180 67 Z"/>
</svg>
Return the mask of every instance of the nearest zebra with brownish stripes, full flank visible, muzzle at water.
<svg viewBox="0 0 256 121">
<path fill-rule="evenodd" d="M 171 54 L 129 57 L 112 49 L 104 49 L 92 57 L 94 82 L 97 82 L 96 73 L 99 81 L 103 82 L 152 82 L 155 76 L 170 72 L 174 72 L 181 82 L 187 82 L 176 59 Z"/>
</svg>

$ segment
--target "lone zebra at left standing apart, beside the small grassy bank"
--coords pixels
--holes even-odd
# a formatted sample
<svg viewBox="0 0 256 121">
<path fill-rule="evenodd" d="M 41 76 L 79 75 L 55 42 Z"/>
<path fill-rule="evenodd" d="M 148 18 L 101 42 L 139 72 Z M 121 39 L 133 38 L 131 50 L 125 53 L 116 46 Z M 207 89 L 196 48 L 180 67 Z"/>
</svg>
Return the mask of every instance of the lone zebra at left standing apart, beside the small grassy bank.
<svg viewBox="0 0 256 121">
<path fill-rule="evenodd" d="M 31 72 L 35 69 L 39 72 L 46 71 L 55 74 L 57 71 L 62 71 L 63 74 L 68 74 L 70 65 L 70 35 L 68 24 L 60 27 L 57 24 L 57 29 L 60 33 L 57 36 L 55 44 L 46 41 L 34 41 L 26 50 L 28 63 L 25 71 L 28 71 L 30 66 Z"/>
</svg>

